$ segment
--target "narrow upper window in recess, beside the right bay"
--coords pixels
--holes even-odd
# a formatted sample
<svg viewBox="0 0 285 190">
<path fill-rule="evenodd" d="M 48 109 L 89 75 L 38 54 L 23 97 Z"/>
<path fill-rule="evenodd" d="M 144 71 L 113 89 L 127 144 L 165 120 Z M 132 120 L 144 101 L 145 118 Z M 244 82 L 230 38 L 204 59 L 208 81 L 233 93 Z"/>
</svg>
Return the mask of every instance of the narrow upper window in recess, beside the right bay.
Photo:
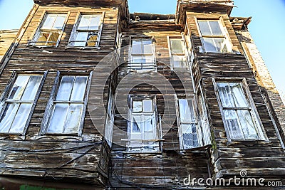
<svg viewBox="0 0 285 190">
<path fill-rule="evenodd" d="M 170 60 L 172 69 L 188 68 L 185 43 L 182 38 L 169 37 Z"/>
</svg>

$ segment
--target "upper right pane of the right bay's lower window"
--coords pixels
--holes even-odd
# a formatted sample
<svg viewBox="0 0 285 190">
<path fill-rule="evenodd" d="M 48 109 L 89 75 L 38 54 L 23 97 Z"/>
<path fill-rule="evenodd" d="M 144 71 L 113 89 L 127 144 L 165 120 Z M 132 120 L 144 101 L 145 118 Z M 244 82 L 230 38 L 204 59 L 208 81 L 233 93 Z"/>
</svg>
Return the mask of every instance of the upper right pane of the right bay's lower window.
<svg viewBox="0 0 285 190">
<path fill-rule="evenodd" d="M 234 99 L 236 107 L 249 107 L 247 98 L 245 97 L 244 91 L 242 90 L 242 84 L 229 83 L 229 87 L 232 90 L 232 97 Z"/>
</svg>

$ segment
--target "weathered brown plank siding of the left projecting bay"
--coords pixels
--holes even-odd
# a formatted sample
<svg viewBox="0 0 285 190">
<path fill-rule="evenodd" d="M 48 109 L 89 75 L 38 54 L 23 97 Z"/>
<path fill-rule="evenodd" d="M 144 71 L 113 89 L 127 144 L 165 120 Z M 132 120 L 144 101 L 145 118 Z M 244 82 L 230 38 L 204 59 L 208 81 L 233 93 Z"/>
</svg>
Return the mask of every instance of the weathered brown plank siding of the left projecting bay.
<svg viewBox="0 0 285 190">
<path fill-rule="evenodd" d="M 59 46 L 46 48 L 28 46 L 28 41 L 33 38 L 45 12 L 69 13 Z M 79 12 L 105 12 L 100 48 L 66 48 Z M 104 186 L 108 176 L 108 167 L 105 162 L 108 162 L 110 150 L 103 146 L 102 134 L 96 130 L 88 109 L 86 109 L 81 137 L 42 135 L 40 130 L 57 71 L 80 72 L 89 75 L 100 60 L 114 50 L 118 7 L 38 6 L 30 19 L 24 35 L 1 74 L 0 91 L 3 92 L 6 88 L 13 71 L 33 73 L 33 71 L 47 70 L 48 75 L 33 110 L 26 134 L 24 136 L 0 135 L 0 172 L 2 175 L 13 174 L 38 179 L 58 178 L 63 181 L 84 181 Z M 94 77 L 96 75 L 97 73 L 93 73 Z M 102 85 L 108 87 L 108 84 Z M 90 94 L 88 104 L 99 105 L 96 100 L 97 96 L 94 93 Z M 101 125 L 104 124 L 104 121 L 100 120 L 95 120 L 95 122 L 97 125 L 100 125 L 100 122 L 102 122 Z"/>
</svg>

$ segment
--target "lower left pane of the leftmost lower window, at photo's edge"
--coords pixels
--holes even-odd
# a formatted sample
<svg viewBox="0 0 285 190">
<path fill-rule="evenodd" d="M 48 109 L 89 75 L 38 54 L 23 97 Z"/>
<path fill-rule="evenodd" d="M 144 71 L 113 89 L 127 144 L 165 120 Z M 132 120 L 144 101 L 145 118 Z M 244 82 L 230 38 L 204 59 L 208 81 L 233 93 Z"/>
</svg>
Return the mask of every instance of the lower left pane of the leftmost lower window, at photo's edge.
<svg viewBox="0 0 285 190">
<path fill-rule="evenodd" d="M 9 132 L 20 104 L 7 104 L 0 120 L 0 132 Z"/>
</svg>

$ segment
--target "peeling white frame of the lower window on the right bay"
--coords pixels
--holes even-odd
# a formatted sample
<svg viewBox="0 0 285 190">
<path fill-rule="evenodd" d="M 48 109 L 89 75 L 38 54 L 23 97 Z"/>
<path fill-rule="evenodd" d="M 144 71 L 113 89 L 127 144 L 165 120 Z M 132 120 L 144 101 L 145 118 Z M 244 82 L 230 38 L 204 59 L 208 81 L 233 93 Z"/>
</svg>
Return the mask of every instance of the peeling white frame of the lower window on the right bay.
<svg viewBox="0 0 285 190">
<path fill-rule="evenodd" d="M 247 85 L 247 80 L 245 78 L 243 79 L 240 79 L 240 80 L 237 80 L 237 79 L 220 79 L 218 78 L 217 80 L 212 78 L 212 81 L 213 81 L 213 84 L 214 84 L 214 90 L 215 90 L 215 93 L 216 93 L 216 96 L 217 96 L 217 100 L 218 100 L 218 103 L 219 103 L 219 110 L 222 114 L 222 120 L 224 122 L 224 128 L 225 128 L 225 131 L 226 131 L 226 134 L 227 134 L 227 139 L 229 142 L 232 142 L 232 141 L 268 141 L 267 137 L 266 137 L 266 132 L 264 131 L 264 127 L 261 123 L 261 120 L 260 120 L 260 117 L 259 117 L 259 114 L 257 112 L 257 108 L 255 107 L 254 105 L 254 100 L 252 99 L 252 95 L 250 93 L 250 90 L 249 90 L 249 87 Z M 219 95 L 219 88 L 218 88 L 218 83 L 239 83 L 242 87 L 242 92 L 243 92 L 243 95 L 245 97 L 245 99 L 247 100 L 247 107 L 223 107 L 222 105 L 222 100 L 221 100 L 221 97 Z M 249 112 L 249 114 L 251 115 L 251 118 L 252 118 L 252 123 L 254 125 L 254 129 L 255 131 L 257 132 L 257 135 L 258 137 L 257 138 L 246 138 L 244 137 L 244 132 L 243 132 L 243 129 L 242 129 L 242 125 L 241 125 L 241 122 L 240 122 L 240 117 L 239 115 L 237 115 L 237 122 L 238 122 L 238 127 L 239 128 L 239 131 L 241 132 L 241 134 L 243 135 L 242 138 L 234 138 L 232 137 L 232 134 L 229 130 L 229 126 L 227 125 L 227 119 L 224 115 L 224 110 L 235 110 L 236 112 L 238 110 L 247 110 Z"/>
</svg>

